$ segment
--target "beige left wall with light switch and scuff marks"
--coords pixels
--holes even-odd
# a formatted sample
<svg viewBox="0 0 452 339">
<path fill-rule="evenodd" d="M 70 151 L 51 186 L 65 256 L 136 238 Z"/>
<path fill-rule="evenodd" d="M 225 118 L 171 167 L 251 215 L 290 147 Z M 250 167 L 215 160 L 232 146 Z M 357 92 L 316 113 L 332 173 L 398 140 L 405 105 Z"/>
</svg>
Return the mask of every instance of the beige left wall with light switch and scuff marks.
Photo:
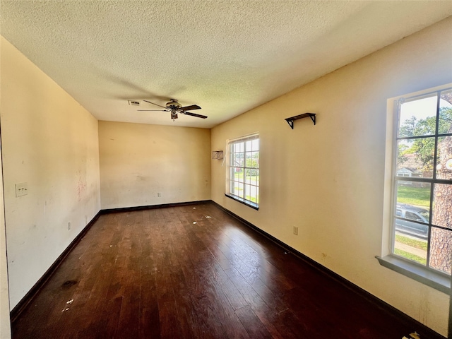
<svg viewBox="0 0 452 339">
<path fill-rule="evenodd" d="M 99 148 L 97 120 L 3 37 L 0 57 L 13 308 L 100 210 Z"/>
</svg>

